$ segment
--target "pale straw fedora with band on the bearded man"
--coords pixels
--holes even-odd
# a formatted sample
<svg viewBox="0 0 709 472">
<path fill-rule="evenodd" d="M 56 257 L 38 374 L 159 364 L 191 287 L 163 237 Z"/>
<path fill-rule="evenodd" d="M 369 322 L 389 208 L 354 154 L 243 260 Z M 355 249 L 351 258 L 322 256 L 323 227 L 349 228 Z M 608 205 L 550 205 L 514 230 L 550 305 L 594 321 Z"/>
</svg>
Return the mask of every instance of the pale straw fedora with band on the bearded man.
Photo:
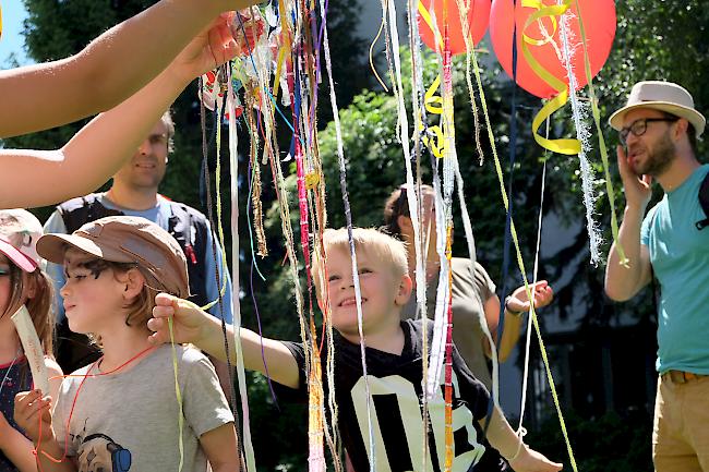
<svg viewBox="0 0 709 472">
<path fill-rule="evenodd" d="M 697 137 L 704 133 L 707 119 L 695 110 L 692 95 L 672 82 L 645 81 L 633 86 L 625 107 L 611 116 L 609 123 L 615 130 L 623 129 L 625 113 L 636 108 L 652 108 L 684 118 L 694 125 Z"/>
</svg>

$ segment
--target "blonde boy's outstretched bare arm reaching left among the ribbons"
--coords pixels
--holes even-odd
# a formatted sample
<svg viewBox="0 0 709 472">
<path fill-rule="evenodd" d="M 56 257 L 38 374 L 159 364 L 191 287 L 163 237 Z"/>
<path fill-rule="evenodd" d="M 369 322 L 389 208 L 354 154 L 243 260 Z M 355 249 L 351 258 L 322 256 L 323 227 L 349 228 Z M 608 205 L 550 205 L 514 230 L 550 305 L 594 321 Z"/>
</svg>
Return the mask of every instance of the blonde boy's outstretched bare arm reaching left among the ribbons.
<svg viewBox="0 0 709 472">
<path fill-rule="evenodd" d="M 155 331 L 149 338 L 151 342 L 156 344 L 170 342 L 168 319 L 171 318 L 175 342 L 190 342 L 209 355 L 226 361 L 221 322 L 200 310 L 194 303 L 167 293 L 158 294 L 155 304 L 153 318 L 147 322 L 147 327 Z M 236 363 L 233 334 L 233 326 L 227 325 L 229 360 Z M 239 336 L 247 368 L 265 374 L 265 364 L 267 364 L 272 380 L 286 387 L 298 388 L 300 383 L 298 363 L 286 346 L 275 339 L 262 338 L 244 328 L 240 328 Z"/>
</svg>

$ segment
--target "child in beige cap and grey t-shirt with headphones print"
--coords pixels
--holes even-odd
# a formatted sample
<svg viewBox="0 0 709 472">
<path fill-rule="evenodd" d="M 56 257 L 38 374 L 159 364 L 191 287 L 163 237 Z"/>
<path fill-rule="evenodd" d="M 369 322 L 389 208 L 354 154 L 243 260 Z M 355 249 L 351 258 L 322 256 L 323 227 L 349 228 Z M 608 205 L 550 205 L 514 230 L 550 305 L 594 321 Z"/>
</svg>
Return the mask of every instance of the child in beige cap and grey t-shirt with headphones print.
<svg viewBox="0 0 709 472">
<path fill-rule="evenodd" d="M 184 470 L 206 471 L 207 461 L 214 471 L 238 470 L 233 416 L 209 361 L 177 347 L 175 366 L 169 346 L 146 339 L 155 294 L 189 295 L 178 242 L 144 218 L 119 216 L 47 234 L 37 252 L 63 263 L 70 328 L 91 334 L 104 353 L 64 380 L 52 415 L 51 399 L 37 391 L 16 400 L 41 469 L 99 470 L 98 461 L 103 470 L 178 470 L 182 444 Z"/>
</svg>

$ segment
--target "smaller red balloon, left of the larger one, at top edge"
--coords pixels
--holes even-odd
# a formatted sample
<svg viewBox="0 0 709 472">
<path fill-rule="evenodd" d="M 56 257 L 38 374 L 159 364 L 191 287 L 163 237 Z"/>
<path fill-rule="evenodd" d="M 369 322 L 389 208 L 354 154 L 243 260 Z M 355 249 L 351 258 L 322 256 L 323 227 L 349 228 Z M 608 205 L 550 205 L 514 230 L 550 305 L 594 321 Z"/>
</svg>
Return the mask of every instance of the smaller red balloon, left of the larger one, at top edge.
<svg viewBox="0 0 709 472">
<path fill-rule="evenodd" d="M 429 9 L 431 0 L 419 1 L 421 1 L 423 8 L 426 10 Z M 433 10 L 435 11 L 436 23 L 438 25 L 438 32 L 441 33 L 441 36 L 443 36 L 443 1 L 444 0 L 433 0 Z M 456 0 L 446 1 L 448 10 L 448 45 L 450 47 L 450 53 L 465 53 L 466 40 L 462 36 L 462 26 L 460 26 L 460 13 L 458 13 L 458 4 Z M 485 35 L 488 23 L 490 21 L 490 7 L 491 0 L 470 0 L 470 8 L 468 9 L 468 26 L 470 27 L 470 37 L 472 38 L 473 45 L 480 43 L 480 39 L 482 39 L 482 37 Z M 433 34 L 433 31 L 421 17 L 420 13 L 418 13 L 418 17 L 419 34 L 421 35 L 421 40 L 423 40 L 428 47 L 435 51 L 435 35 Z M 441 50 L 443 50 L 443 47 L 441 47 Z"/>
</svg>

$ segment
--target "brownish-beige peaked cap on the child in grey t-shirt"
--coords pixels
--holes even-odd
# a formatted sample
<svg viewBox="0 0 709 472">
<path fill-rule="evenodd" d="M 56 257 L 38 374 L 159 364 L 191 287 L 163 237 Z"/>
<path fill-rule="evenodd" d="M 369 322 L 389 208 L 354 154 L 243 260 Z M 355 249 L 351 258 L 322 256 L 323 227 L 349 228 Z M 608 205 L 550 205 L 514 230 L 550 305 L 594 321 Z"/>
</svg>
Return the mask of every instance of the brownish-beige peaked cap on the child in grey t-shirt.
<svg viewBox="0 0 709 472">
<path fill-rule="evenodd" d="M 151 287 L 182 299 L 190 295 L 182 247 L 169 232 L 145 218 L 109 216 L 87 222 L 72 234 L 45 234 L 37 242 L 37 252 L 57 264 L 63 264 L 68 247 L 104 261 L 135 263 Z"/>
</svg>

